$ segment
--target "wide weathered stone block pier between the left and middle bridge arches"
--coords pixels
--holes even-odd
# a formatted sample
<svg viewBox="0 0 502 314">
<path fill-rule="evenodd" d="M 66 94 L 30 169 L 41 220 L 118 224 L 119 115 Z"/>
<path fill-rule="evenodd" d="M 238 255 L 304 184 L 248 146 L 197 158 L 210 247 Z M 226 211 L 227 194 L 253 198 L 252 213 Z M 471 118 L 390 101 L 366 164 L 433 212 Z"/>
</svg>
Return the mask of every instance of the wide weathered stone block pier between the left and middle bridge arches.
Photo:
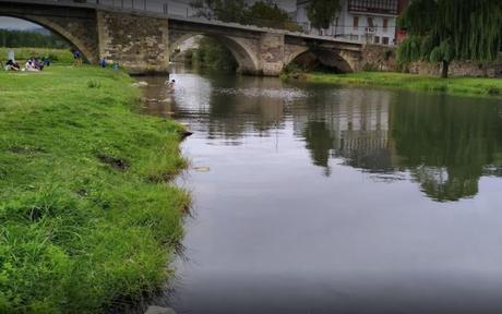
<svg viewBox="0 0 502 314">
<path fill-rule="evenodd" d="M 132 74 L 168 72 L 167 19 L 97 11 L 99 58 Z"/>
</svg>

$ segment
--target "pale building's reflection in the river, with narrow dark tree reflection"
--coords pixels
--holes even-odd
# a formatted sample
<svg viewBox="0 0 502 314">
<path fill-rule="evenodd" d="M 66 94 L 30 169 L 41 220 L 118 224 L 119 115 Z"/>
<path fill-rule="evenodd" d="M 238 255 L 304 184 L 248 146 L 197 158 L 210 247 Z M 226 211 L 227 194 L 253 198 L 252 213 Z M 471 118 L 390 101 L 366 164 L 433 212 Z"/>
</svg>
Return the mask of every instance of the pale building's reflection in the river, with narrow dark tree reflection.
<svg viewBox="0 0 502 314">
<path fill-rule="evenodd" d="M 391 93 L 309 86 L 306 106 L 292 110 L 297 136 L 304 137 L 315 166 L 326 167 L 330 157 L 371 172 L 391 172 L 389 104 Z M 299 132 L 301 130 L 301 132 Z"/>
</svg>

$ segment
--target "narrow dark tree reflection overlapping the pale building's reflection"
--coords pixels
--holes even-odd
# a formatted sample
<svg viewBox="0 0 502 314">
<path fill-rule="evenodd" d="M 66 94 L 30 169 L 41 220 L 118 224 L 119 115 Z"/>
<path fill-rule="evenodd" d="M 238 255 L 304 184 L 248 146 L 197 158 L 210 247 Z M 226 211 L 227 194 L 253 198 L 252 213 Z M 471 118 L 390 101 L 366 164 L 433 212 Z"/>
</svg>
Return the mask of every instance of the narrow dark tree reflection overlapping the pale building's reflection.
<svg viewBox="0 0 502 314">
<path fill-rule="evenodd" d="M 310 150 L 313 164 L 315 166 L 325 167 L 326 174 L 328 176 L 330 152 L 335 148 L 335 138 L 332 137 L 332 131 L 327 128 L 325 122 L 309 121 L 303 132 L 307 149 Z"/>
</svg>

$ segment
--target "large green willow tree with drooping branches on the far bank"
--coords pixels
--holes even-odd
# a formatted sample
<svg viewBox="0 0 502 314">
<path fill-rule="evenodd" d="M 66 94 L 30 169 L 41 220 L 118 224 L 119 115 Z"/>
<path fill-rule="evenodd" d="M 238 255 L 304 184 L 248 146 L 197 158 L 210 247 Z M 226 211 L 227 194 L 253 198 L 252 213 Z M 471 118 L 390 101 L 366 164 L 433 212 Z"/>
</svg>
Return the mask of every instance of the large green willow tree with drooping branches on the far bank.
<svg viewBox="0 0 502 314">
<path fill-rule="evenodd" d="M 406 64 L 442 63 L 447 77 L 453 60 L 493 61 L 501 47 L 502 1 L 415 0 L 401 19 L 410 35 L 397 50 Z"/>
</svg>

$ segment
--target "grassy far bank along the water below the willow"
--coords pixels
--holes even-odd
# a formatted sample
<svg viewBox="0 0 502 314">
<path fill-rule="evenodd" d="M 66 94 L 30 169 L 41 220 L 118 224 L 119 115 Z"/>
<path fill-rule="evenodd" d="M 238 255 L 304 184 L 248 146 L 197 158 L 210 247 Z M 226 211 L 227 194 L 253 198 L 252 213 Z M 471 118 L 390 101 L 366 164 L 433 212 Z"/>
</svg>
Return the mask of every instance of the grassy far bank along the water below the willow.
<svg viewBox="0 0 502 314">
<path fill-rule="evenodd" d="M 302 80 L 316 83 L 397 87 L 416 90 L 446 92 L 451 94 L 501 95 L 502 80 L 480 77 L 452 77 L 414 75 L 406 73 L 361 72 L 350 74 L 302 74 Z"/>
</svg>

